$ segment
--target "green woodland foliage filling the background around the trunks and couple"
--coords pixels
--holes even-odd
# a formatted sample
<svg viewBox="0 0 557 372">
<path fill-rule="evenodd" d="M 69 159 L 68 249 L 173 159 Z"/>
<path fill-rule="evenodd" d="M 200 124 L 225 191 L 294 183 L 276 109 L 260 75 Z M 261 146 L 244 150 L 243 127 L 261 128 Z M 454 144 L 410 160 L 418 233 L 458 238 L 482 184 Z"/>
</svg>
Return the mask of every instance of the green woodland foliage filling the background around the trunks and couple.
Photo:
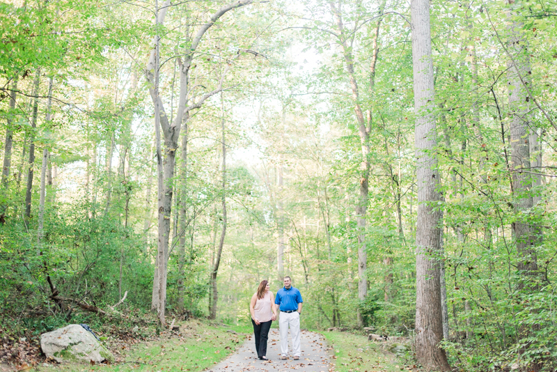
<svg viewBox="0 0 557 372">
<path fill-rule="evenodd" d="M 163 36 L 161 99 L 173 119 L 191 38 L 221 3 L 173 3 L 158 30 L 153 3 L 0 3 L 0 129 L 13 136 L 9 175 L 0 185 L 0 326 L 6 334 L 36 336 L 70 321 L 101 327 L 105 319 L 75 301 L 107 309 L 125 291 L 123 313 L 148 318 L 159 206 L 148 95 L 152 86 L 143 69 L 158 31 Z M 342 36 L 328 1 L 256 2 L 219 19 L 198 47 L 190 66 L 188 104 L 221 79 L 224 91 L 189 113 L 187 162 L 182 148 L 173 149 L 178 156 L 170 181 L 167 300 L 168 311 L 176 316 L 207 315 L 225 196 L 227 230 L 217 281 L 220 321 L 249 330 L 249 299 L 263 279 L 273 292 L 281 288 L 277 265 L 282 259 L 284 274 L 304 297 L 303 327 L 355 328 L 360 311 L 378 332 L 414 332 L 420 185 L 409 9 L 398 0 L 385 2 L 382 14 L 382 1 L 342 3 Z M 440 258 L 449 317 L 443 346 L 450 364 L 461 371 L 513 364 L 524 369 L 540 364 L 549 371 L 557 367 L 557 159 L 551 123 L 557 113 L 557 4 L 430 6 L 438 137 L 433 153 L 444 196 L 437 208 L 444 212 Z M 519 24 L 519 43 L 510 42 L 510 22 Z M 349 59 L 340 47 L 343 42 Z M 507 78 L 515 58 L 530 59 L 532 69 L 524 77 L 530 93 L 517 108 L 528 109 L 529 134 L 540 136 L 541 148 L 530 156 L 540 155 L 543 168 L 512 163 L 515 108 L 509 106 Z M 16 104 L 10 109 L 15 77 Z M 49 77 L 54 90 L 47 121 Z M 359 87 L 357 98 L 351 78 Z M 356 104 L 370 131 L 366 228 L 358 227 L 355 215 L 363 160 Z M 36 158 L 29 164 L 31 141 Z M 52 177 L 46 177 L 39 239 L 45 148 L 45 171 Z M 24 217 L 29 167 L 34 171 L 32 212 Z M 512 185 L 514 175 L 530 175 L 526 183 L 531 183 L 540 172 L 547 176 L 539 185 L 521 192 Z M 518 208 L 529 198 L 532 208 Z M 528 257 L 517 246 L 517 223 L 535 227 Z M 357 294 L 359 235 L 368 256 L 363 301 Z M 281 258 L 278 245 L 284 248 Z M 525 261 L 535 261 L 538 270 L 518 270 Z M 55 301 L 55 293 L 65 300 Z M 110 322 L 126 327 L 135 321 L 125 319 Z M 330 339 L 342 343 L 341 337 Z"/>
</svg>

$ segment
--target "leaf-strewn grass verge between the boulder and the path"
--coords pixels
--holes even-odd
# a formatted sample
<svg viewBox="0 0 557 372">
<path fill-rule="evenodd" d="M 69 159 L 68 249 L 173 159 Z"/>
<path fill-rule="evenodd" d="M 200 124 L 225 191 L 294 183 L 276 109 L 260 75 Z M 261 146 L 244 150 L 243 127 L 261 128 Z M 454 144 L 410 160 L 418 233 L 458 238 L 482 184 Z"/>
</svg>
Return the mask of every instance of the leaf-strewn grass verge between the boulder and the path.
<svg viewBox="0 0 557 372">
<path fill-rule="evenodd" d="M 226 332 L 232 328 L 189 320 L 180 323 L 180 334 L 162 334 L 155 341 L 137 343 L 126 350 L 125 363 L 109 366 L 60 364 L 55 368 L 62 372 L 203 371 L 235 352 L 242 344 L 246 335 Z M 41 366 L 38 371 L 50 372 L 52 368 Z"/>
</svg>

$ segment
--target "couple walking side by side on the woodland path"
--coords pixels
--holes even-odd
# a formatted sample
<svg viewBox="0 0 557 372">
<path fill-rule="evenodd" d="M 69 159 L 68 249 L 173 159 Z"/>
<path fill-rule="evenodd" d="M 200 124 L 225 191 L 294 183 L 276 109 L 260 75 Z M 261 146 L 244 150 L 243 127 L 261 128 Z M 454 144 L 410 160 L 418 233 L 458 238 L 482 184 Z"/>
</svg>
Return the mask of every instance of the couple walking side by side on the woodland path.
<svg viewBox="0 0 557 372">
<path fill-rule="evenodd" d="M 284 287 L 276 293 L 276 298 L 269 290 L 269 281 L 261 281 L 258 290 L 251 297 L 249 312 L 256 339 L 256 350 L 259 359 L 268 360 L 267 339 L 273 320 L 276 320 L 276 311 L 281 311 L 278 328 L 281 333 L 281 359 L 288 359 L 288 329 L 292 335 L 292 354 L 298 360 L 300 352 L 300 313 L 301 294 L 297 288 L 292 287 L 292 279 L 284 277 Z"/>
</svg>

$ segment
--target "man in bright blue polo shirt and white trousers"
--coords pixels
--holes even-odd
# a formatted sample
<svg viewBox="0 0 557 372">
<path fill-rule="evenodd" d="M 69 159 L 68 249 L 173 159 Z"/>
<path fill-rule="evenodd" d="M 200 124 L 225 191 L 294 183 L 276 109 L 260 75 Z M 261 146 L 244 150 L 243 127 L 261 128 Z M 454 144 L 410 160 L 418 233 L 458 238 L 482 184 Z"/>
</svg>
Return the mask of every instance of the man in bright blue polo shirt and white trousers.
<svg viewBox="0 0 557 372">
<path fill-rule="evenodd" d="M 281 330 L 281 359 L 288 359 L 288 328 L 292 336 L 292 355 L 294 360 L 300 359 L 300 314 L 301 294 L 297 288 L 292 287 L 292 279 L 284 277 L 284 288 L 276 293 L 274 300 L 277 310 L 281 310 L 278 327 Z"/>
</svg>

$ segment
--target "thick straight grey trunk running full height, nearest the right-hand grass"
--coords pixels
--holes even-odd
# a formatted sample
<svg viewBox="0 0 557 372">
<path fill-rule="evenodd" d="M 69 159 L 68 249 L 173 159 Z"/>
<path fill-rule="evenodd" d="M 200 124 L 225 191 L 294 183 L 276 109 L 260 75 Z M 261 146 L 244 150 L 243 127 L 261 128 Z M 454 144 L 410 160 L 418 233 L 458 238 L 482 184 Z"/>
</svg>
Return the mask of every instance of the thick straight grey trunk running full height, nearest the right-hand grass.
<svg viewBox="0 0 557 372">
<path fill-rule="evenodd" d="M 437 190 L 439 171 L 434 109 L 433 64 L 431 57 L 430 4 L 411 1 L 414 109 L 416 111 L 416 173 L 418 221 L 416 229 L 416 357 L 425 369 L 448 371 L 441 313 L 440 260 L 441 219 Z"/>
</svg>

